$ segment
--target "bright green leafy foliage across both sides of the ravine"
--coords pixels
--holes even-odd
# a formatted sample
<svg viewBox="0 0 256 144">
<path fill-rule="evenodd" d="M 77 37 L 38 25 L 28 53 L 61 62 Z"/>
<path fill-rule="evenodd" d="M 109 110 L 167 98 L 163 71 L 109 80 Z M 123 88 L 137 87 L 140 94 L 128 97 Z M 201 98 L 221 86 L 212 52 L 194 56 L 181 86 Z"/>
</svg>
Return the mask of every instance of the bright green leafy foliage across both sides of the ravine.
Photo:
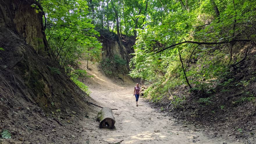
<svg viewBox="0 0 256 144">
<path fill-rule="evenodd" d="M 81 73 L 86 75 L 77 71 L 77 65 L 81 58 L 99 60 L 102 51 L 96 29 L 116 33 L 120 46 L 122 35 L 134 36 L 137 40 L 129 75 L 154 82 L 146 93 L 153 101 L 183 83 L 204 93 L 212 93 L 216 83 L 226 80 L 242 85 L 241 81 L 225 78 L 255 45 L 255 1 L 40 3 L 45 13 L 47 40 L 60 70 L 73 75 L 75 81 Z M 36 4 L 31 6 L 36 13 L 40 12 Z M 111 65 L 111 60 L 102 61 Z"/>
</svg>

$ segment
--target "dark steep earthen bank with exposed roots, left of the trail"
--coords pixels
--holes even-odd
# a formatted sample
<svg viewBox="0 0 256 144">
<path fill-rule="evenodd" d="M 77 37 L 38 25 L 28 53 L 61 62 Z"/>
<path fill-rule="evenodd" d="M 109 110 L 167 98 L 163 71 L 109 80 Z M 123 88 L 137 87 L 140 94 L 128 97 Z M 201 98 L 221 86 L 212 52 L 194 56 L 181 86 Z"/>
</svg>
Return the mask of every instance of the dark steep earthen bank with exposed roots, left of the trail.
<svg viewBox="0 0 256 144">
<path fill-rule="evenodd" d="M 12 136 L 1 141 L 80 143 L 76 131 L 84 128 L 77 120 L 91 120 L 96 112 L 89 102 L 94 100 L 65 74 L 53 71 L 58 63 L 51 61 L 43 13 L 31 4 L 41 9 L 33 0 L 0 1 L 0 132 Z"/>
</svg>

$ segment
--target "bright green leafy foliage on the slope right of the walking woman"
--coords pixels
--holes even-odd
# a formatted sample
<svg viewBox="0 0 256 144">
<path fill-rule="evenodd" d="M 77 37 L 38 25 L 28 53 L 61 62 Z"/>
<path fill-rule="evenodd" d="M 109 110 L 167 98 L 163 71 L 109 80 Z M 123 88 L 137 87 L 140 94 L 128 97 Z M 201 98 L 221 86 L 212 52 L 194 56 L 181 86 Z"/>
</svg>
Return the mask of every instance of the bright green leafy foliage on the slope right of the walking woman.
<svg viewBox="0 0 256 144">
<path fill-rule="evenodd" d="M 157 2 L 149 2 L 154 13 L 148 11 L 137 29 L 130 63 L 131 77 L 155 82 L 146 93 L 153 101 L 183 83 L 210 95 L 216 84 L 244 86 L 255 80 L 232 76 L 255 45 L 255 1 Z M 255 93 L 248 95 L 255 99 Z"/>
</svg>

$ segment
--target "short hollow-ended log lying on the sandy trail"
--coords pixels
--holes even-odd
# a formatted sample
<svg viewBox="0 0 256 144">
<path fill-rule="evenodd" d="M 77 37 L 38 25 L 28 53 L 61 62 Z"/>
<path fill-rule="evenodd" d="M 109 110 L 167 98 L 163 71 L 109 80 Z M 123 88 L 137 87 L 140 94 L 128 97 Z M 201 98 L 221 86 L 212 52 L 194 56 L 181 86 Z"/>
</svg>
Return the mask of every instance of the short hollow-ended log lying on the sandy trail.
<svg viewBox="0 0 256 144">
<path fill-rule="evenodd" d="M 115 118 L 112 110 L 108 107 L 101 109 L 101 111 L 98 113 L 97 119 L 99 121 L 100 128 L 112 129 L 115 125 Z"/>
</svg>

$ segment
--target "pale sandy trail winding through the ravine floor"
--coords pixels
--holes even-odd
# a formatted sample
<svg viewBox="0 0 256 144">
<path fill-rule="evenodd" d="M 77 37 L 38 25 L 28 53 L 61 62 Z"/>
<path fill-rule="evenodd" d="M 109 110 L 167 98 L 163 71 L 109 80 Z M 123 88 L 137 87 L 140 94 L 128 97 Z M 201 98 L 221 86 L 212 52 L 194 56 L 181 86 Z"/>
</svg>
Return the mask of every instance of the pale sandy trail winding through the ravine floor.
<svg viewBox="0 0 256 144">
<path fill-rule="evenodd" d="M 173 117 L 167 116 L 153 109 L 139 98 L 138 107 L 135 104 L 133 90 L 135 83 L 127 81 L 125 86 L 113 83 L 97 69 L 90 65 L 88 73 L 94 77 L 86 80 L 92 91 L 91 97 L 102 106 L 113 110 L 115 129 L 99 129 L 99 122 L 81 122 L 90 133 L 83 132 L 87 143 L 118 143 L 122 144 L 227 144 L 230 142 L 221 138 L 213 138 L 204 132 L 196 131 L 191 124 L 184 125 L 175 122 Z M 86 68 L 86 66 L 84 66 Z M 133 84 L 133 85 L 131 85 Z M 100 110 L 100 108 L 99 108 Z M 96 116 L 95 116 L 96 117 Z"/>
</svg>

